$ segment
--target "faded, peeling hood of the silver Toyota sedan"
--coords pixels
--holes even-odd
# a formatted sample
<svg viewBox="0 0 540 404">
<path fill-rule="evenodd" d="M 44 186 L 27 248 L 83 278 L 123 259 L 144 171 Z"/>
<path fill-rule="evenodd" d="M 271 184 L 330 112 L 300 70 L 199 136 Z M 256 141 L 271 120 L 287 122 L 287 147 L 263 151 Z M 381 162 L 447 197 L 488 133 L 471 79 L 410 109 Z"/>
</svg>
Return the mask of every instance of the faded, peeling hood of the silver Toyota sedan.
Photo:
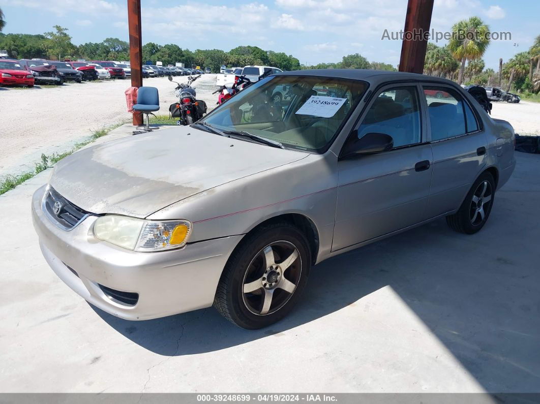
<svg viewBox="0 0 540 404">
<path fill-rule="evenodd" d="M 50 184 L 86 211 L 146 217 L 307 155 L 175 127 L 80 150 L 57 163 Z"/>
</svg>

